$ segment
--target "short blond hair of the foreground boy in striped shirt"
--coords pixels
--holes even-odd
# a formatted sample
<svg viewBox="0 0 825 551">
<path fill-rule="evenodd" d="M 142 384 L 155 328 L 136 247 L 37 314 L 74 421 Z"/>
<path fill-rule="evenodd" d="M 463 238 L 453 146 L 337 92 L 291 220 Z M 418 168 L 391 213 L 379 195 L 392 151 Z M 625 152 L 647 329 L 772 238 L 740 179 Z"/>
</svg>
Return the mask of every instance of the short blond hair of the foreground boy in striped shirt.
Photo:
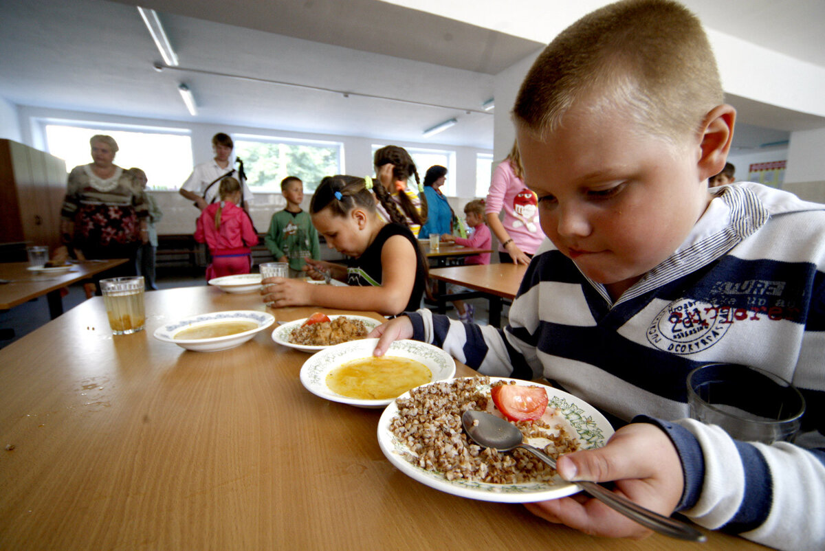
<svg viewBox="0 0 825 551">
<path fill-rule="evenodd" d="M 649 134 L 678 141 L 724 102 L 699 19 L 670 0 L 615 2 L 562 31 L 535 60 L 512 115 L 544 139 L 579 100 L 618 108 Z"/>
</svg>

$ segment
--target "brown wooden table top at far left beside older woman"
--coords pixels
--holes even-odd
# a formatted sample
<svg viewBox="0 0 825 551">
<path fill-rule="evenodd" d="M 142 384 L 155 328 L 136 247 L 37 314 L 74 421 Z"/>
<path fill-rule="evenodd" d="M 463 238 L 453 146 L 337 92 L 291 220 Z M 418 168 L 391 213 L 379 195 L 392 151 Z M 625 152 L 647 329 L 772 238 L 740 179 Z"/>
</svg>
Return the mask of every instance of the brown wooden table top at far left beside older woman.
<svg viewBox="0 0 825 551">
<path fill-rule="evenodd" d="M 0 309 L 13 308 L 128 261 L 128 258 L 112 258 L 78 262 L 72 265 L 70 271 L 61 274 L 41 274 L 29 271 L 26 269 L 29 267 L 28 262 L 0 262 L 0 279 L 12 280 L 11 283 L 0 285 Z"/>
</svg>

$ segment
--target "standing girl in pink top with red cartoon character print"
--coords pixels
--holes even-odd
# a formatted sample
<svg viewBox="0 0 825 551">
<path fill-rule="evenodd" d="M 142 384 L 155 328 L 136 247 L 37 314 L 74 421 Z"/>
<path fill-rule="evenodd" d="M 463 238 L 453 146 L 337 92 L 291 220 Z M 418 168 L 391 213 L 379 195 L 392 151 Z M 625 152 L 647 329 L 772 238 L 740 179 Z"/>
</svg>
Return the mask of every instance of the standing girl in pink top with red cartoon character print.
<svg viewBox="0 0 825 551">
<path fill-rule="evenodd" d="M 498 256 L 502 262 L 530 264 L 544 233 L 539 225 L 538 200 L 521 179 L 521 157 L 513 143 L 510 154 L 493 171 L 487 195 L 487 223 L 498 238 Z M 504 219 L 498 214 L 504 211 Z"/>
</svg>

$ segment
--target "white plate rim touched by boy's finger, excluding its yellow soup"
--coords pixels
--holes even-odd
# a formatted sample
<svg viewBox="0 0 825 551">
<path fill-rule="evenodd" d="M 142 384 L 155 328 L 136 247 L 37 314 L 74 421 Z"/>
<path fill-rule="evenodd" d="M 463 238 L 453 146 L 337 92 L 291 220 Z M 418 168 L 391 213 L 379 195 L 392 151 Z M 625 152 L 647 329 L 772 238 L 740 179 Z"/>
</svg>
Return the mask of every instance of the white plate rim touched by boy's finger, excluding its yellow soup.
<svg viewBox="0 0 825 551">
<path fill-rule="evenodd" d="M 394 402 L 394 398 L 380 400 L 362 400 L 349 398 L 338 394 L 327 386 L 327 375 L 330 371 L 351 360 L 372 357 L 372 351 L 378 339 L 361 339 L 358 341 L 342 342 L 339 345 L 329 346 L 311 356 L 301 367 L 301 384 L 309 392 L 320 398 L 332 402 L 347 403 L 357 407 L 386 407 Z M 426 365 L 431 373 L 431 381 L 451 379 L 455 375 L 455 360 L 437 346 L 421 341 L 394 341 L 384 356 L 410 358 Z"/>
</svg>

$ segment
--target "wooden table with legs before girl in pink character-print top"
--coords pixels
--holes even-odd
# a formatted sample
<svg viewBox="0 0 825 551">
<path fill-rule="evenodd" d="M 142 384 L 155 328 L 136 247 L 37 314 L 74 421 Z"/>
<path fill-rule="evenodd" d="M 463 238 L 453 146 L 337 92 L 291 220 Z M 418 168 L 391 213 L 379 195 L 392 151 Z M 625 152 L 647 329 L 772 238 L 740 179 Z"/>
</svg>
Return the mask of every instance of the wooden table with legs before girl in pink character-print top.
<svg viewBox="0 0 825 551">
<path fill-rule="evenodd" d="M 452 299 L 472 299 L 482 296 L 488 299 L 490 325 L 502 323 L 502 299 L 512 300 L 518 293 L 521 280 L 527 271 L 523 264 L 474 264 L 433 268 L 430 277 L 438 281 L 438 313 L 446 312 L 446 303 Z M 446 284 L 464 285 L 477 293 L 447 294 Z"/>
</svg>

